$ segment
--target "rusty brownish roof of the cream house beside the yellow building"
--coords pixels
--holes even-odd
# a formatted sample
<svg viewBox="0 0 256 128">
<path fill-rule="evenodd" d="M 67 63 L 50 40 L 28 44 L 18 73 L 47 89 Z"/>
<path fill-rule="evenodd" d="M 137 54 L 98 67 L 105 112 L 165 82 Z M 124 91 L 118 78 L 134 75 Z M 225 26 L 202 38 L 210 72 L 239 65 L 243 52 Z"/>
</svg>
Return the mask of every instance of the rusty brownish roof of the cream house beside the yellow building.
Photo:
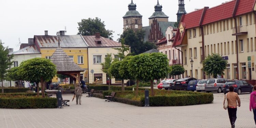
<svg viewBox="0 0 256 128">
<path fill-rule="evenodd" d="M 88 43 L 89 47 L 120 47 L 122 46 L 121 43 L 116 41 L 100 37 L 96 38 L 95 35 L 85 35 L 83 36 L 85 41 Z M 98 44 L 95 41 L 101 41 L 101 44 Z"/>
</svg>

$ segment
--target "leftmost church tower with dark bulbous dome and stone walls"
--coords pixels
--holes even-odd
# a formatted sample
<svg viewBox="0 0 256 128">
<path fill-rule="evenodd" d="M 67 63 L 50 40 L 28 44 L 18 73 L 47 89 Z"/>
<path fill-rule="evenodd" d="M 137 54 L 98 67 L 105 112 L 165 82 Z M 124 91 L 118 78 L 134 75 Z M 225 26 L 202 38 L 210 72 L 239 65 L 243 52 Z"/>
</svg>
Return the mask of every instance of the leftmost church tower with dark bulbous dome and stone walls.
<svg viewBox="0 0 256 128">
<path fill-rule="evenodd" d="M 128 5 L 129 11 L 123 16 L 124 19 L 124 31 L 126 29 L 133 29 L 134 31 L 142 29 L 142 15 L 136 11 L 137 5 L 133 3 L 133 0 Z"/>
</svg>

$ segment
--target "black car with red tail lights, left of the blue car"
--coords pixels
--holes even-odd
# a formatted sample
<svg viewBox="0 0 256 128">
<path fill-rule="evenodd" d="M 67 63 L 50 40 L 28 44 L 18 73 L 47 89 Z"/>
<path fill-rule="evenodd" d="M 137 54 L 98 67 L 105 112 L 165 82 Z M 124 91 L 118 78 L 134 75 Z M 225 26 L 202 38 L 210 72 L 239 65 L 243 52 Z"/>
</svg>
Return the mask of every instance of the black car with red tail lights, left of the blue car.
<svg viewBox="0 0 256 128">
<path fill-rule="evenodd" d="M 187 90 L 187 84 L 189 81 L 195 81 L 197 79 L 190 77 L 190 78 L 183 78 L 179 79 L 174 82 L 173 90 Z"/>
</svg>

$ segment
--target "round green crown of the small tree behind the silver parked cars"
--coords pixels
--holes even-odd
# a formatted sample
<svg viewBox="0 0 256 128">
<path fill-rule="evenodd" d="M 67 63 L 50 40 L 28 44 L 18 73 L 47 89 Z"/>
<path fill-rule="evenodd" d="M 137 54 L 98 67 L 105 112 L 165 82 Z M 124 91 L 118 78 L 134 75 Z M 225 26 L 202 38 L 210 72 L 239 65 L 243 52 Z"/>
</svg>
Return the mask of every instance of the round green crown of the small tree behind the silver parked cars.
<svg viewBox="0 0 256 128">
<path fill-rule="evenodd" d="M 227 67 L 227 63 L 228 61 L 224 60 L 219 54 L 208 55 L 203 61 L 203 70 L 207 75 L 216 78 L 217 75 L 225 74 L 224 70 Z"/>
</svg>

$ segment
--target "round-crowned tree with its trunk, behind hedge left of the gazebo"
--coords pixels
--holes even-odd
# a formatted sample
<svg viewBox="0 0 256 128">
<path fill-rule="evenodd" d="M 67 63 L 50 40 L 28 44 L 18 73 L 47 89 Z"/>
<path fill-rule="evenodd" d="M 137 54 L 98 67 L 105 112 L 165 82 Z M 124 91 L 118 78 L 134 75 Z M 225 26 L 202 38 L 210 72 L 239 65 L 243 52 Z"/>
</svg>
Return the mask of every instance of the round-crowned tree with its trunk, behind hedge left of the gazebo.
<svg viewBox="0 0 256 128">
<path fill-rule="evenodd" d="M 22 80 L 35 82 L 37 85 L 41 82 L 42 93 L 43 83 L 51 81 L 57 74 L 56 66 L 49 59 L 45 58 L 33 58 L 25 60 L 19 65 L 20 70 L 18 75 L 22 77 Z M 37 86 L 39 96 L 39 86 Z"/>
</svg>

